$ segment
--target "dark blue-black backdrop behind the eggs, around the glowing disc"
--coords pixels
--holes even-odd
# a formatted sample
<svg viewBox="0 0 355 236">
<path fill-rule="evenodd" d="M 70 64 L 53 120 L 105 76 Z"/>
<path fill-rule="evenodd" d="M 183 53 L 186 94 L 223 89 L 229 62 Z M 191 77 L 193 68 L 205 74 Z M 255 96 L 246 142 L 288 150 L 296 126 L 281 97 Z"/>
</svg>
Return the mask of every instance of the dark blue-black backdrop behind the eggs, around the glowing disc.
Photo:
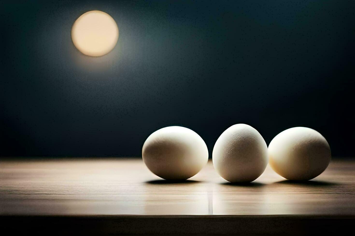
<svg viewBox="0 0 355 236">
<path fill-rule="evenodd" d="M 140 156 L 191 128 L 210 154 L 231 125 L 266 143 L 305 126 L 354 156 L 355 1 L 1 3 L 1 156 Z M 101 10 L 120 36 L 81 54 L 71 26 Z"/>
</svg>

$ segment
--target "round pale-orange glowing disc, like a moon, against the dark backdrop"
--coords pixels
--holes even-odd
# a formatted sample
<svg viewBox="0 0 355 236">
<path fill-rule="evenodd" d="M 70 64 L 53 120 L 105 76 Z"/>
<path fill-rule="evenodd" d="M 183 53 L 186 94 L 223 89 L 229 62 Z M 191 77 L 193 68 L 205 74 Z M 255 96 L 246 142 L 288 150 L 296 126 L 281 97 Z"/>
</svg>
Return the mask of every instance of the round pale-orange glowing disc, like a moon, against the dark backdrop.
<svg viewBox="0 0 355 236">
<path fill-rule="evenodd" d="M 99 57 L 109 53 L 118 40 L 115 20 L 102 11 L 88 11 L 73 24 L 71 39 L 85 55 Z"/>
</svg>

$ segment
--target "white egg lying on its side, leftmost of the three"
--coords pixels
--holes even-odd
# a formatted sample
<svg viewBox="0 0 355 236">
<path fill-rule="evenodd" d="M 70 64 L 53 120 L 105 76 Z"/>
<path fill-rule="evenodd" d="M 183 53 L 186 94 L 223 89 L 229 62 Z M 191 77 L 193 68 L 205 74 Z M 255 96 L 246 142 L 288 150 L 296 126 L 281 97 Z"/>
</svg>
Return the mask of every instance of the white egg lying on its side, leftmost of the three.
<svg viewBox="0 0 355 236">
<path fill-rule="evenodd" d="M 191 129 L 170 126 L 152 133 L 143 144 L 148 169 L 167 180 L 185 180 L 197 174 L 208 161 L 203 139 Z"/>
</svg>

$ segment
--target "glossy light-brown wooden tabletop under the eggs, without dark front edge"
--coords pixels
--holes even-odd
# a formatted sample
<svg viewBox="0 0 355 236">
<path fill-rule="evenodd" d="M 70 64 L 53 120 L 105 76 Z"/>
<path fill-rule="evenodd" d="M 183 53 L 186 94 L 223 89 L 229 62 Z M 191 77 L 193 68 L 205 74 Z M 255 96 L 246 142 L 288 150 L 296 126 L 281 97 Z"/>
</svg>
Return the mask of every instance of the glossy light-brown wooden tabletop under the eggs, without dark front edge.
<svg viewBox="0 0 355 236">
<path fill-rule="evenodd" d="M 231 184 L 209 161 L 171 183 L 142 159 L 0 161 L 0 215 L 355 215 L 355 161 L 334 159 L 321 175 L 292 182 L 267 166 Z"/>
</svg>

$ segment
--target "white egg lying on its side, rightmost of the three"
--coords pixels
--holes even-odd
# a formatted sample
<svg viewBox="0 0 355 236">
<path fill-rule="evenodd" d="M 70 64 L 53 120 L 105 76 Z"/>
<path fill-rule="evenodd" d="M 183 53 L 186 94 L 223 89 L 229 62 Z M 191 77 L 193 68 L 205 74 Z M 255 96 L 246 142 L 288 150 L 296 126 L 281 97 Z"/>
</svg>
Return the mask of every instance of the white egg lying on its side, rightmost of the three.
<svg viewBox="0 0 355 236">
<path fill-rule="evenodd" d="M 331 149 L 317 131 L 294 127 L 279 133 L 269 144 L 269 163 L 273 170 L 289 180 L 310 180 L 329 165 Z"/>
</svg>

